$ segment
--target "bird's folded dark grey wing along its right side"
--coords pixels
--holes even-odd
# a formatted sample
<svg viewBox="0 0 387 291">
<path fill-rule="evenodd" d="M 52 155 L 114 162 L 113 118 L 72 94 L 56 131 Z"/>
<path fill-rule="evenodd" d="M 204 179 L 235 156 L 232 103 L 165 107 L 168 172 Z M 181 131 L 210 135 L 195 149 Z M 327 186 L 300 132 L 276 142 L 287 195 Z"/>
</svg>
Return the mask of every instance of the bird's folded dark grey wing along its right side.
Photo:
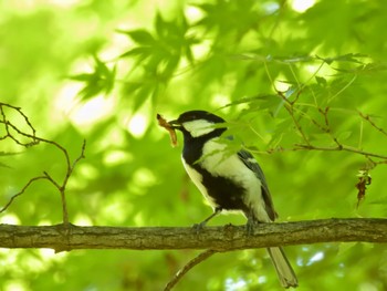
<svg viewBox="0 0 387 291">
<path fill-rule="evenodd" d="M 266 212 L 270 217 L 271 220 L 275 220 L 275 218 L 278 217 L 275 210 L 274 210 L 274 205 L 273 205 L 273 200 L 271 198 L 270 195 L 270 190 L 268 187 L 268 183 L 266 179 L 264 178 L 263 172 L 260 167 L 260 165 L 258 164 L 258 162 L 255 160 L 255 158 L 247 150 L 240 150 L 238 152 L 238 157 L 243 162 L 243 164 L 250 168 L 252 172 L 254 172 L 255 176 L 261 180 L 262 186 L 262 197 L 264 200 L 264 206 L 266 209 Z"/>
</svg>

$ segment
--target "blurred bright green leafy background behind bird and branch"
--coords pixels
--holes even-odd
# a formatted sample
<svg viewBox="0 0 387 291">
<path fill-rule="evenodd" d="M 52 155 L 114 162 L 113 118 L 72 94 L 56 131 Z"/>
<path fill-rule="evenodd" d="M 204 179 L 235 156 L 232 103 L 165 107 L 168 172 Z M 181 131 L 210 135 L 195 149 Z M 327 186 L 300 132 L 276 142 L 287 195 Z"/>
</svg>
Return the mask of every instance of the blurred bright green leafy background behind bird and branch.
<svg viewBox="0 0 387 291">
<path fill-rule="evenodd" d="M 373 164 L 386 159 L 294 150 L 338 143 L 386 156 L 384 1 L 19 0 L 1 1 L 0 13 L 0 102 L 20 106 L 38 136 L 72 159 L 87 141 L 66 191 L 73 224 L 187 227 L 207 217 L 211 209 L 180 164 L 181 136 L 172 148 L 155 121 L 194 108 L 227 118 L 236 148 L 243 141 L 255 154 L 281 221 L 386 216 L 386 166 Z M 63 179 L 63 156 L 50 145 L 2 139 L 0 154 L 0 206 L 43 170 Z M 373 180 L 357 208 L 364 168 Z M 46 181 L 0 214 L 2 224 L 61 219 L 60 195 Z M 228 222 L 244 218 L 210 224 Z M 197 253 L 1 249 L 0 290 L 161 290 Z M 384 246 L 318 243 L 286 253 L 299 290 L 387 289 Z M 245 250 L 213 256 L 176 290 L 281 287 L 266 253 Z"/>
</svg>

